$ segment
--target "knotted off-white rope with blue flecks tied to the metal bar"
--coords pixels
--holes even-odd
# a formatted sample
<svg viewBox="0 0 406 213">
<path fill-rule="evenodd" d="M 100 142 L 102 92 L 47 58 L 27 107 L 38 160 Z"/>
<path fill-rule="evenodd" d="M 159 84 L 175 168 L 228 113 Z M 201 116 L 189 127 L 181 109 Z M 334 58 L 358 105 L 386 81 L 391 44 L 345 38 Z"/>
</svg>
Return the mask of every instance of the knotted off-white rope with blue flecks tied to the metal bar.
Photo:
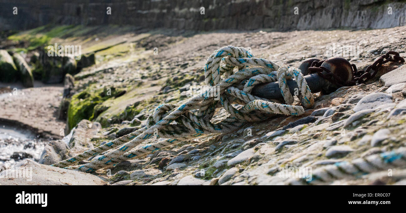
<svg viewBox="0 0 406 213">
<path fill-rule="evenodd" d="M 244 47 L 226 46 L 218 49 L 209 56 L 205 65 L 205 82 L 211 86 L 207 91 L 190 98 L 181 106 L 162 104 L 149 115 L 144 128 L 52 166 L 93 172 L 125 160 L 141 158 L 158 149 L 203 134 L 231 132 L 247 122 L 262 121 L 273 114 L 301 115 L 304 113 L 302 106 L 288 105 L 293 103 L 294 98 L 286 85 L 286 80 L 292 77 L 300 88 L 299 98 L 303 106 L 308 108 L 313 106 L 313 95 L 299 69 L 279 66 L 274 62 L 253 57 L 253 54 Z M 220 66 L 220 62 L 224 64 Z M 238 71 L 234 73 L 235 67 L 238 67 Z M 221 75 L 224 75 L 225 79 L 222 79 Z M 279 81 L 286 104 L 271 102 L 249 94 L 255 85 L 274 81 Z M 243 90 L 238 89 L 241 84 L 244 84 Z M 211 95 L 216 93 L 220 95 L 220 100 L 215 100 Z M 236 109 L 233 103 L 245 105 Z M 210 120 L 217 107 L 223 107 L 230 115 L 220 122 L 212 123 Z M 198 109 L 197 113 L 192 113 L 193 109 Z M 172 123 L 173 121 L 176 121 L 176 124 Z M 154 135 L 157 138 L 169 139 L 137 147 Z M 113 150 L 108 151 L 110 149 Z M 73 165 L 95 155 L 102 156 L 83 165 Z"/>
</svg>

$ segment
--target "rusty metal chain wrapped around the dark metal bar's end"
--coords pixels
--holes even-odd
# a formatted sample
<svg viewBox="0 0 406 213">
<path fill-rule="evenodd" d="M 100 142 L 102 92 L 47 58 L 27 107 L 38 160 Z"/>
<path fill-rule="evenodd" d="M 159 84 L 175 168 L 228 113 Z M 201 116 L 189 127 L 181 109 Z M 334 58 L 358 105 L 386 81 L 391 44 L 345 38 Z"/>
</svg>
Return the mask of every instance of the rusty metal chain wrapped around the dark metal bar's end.
<svg viewBox="0 0 406 213">
<path fill-rule="evenodd" d="M 395 51 L 388 51 L 386 54 L 381 55 L 373 64 L 369 65 L 365 72 L 363 72 L 363 70 L 357 71 L 355 64 L 351 64 L 352 80 L 343 81 L 339 76 L 328 70 L 328 68 L 321 66 L 324 61 L 325 60 L 320 62 L 313 61 L 309 67 L 310 73 L 317 72 L 320 77 L 339 87 L 354 86 L 356 83 L 361 84 L 369 81 L 375 77 L 382 64 L 386 64 L 387 62 L 405 62 L 404 58 L 400 57 L 399 53 Z M 370 70 L 373 71 L 372 74 L 369 72 Z M 323 71 L 326 71 L 327 74 L 323 74 Z"/>
</svg>

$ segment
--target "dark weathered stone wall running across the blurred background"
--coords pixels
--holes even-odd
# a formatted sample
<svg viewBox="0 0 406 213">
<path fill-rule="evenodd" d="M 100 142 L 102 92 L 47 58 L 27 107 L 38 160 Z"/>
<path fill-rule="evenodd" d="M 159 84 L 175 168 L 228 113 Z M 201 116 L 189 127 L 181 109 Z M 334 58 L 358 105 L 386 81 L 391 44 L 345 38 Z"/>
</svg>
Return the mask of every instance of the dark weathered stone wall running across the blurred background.
<svg viewBox="0 0 406 213">
<path fill-rule="evenodd" d="M 406 24 L 404 0 L 0 0 L 0 5 L 0 30 L 25 30 L 48 23 L 203 31 L 390 28 Z M 18 15 L 13 15 L 14 6 Z M 111 15 L 106 14 L 108 6 Z M 294 15 L 296 6 L 298 15 Z"/>
</svg>

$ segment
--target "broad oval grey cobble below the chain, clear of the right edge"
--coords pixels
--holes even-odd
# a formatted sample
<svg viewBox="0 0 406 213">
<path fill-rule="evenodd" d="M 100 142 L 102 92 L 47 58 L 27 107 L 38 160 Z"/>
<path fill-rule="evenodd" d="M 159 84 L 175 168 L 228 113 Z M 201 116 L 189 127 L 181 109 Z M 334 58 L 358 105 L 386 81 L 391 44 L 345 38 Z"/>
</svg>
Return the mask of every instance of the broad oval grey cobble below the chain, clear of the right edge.
<svg viewBox="0 0 406 213">
<path fill-rule="evenodd" d="M 392 103 L 392 96 L 382 92 L 371 93 L 358 101 L 354 109 L 354 112 L 362 111 L 365 109 L 375 109 L 382 104 Z"/>
</svg>

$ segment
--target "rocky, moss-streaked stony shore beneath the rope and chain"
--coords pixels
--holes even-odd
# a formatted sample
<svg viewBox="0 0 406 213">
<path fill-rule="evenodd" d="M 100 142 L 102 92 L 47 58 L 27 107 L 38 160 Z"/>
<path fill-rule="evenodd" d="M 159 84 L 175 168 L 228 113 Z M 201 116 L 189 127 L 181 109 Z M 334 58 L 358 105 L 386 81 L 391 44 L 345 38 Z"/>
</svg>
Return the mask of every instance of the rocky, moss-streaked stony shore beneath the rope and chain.
<svg viewBox="0 0 406 213">
<path fill-rule="evenodd" d="M 360 7 L 372 6 L 377 5 Z M 387 19 L 380 20 L 387 25 Z M 213 23 L 223 22 L 213 18 Z M 293 29 L 206 26 L 206 31 L 49 23 L 5 30 L 0 36 L 0 185 L 406 185 L 404 62 L 382 64 L 369 81 L 313 93 L 313 107 L 304 107 L 301 115 L 270 115 L 88 173 L 50 166 L 142 130 L 161 104 L 182 106 L 191 87 L 207 86 L 207 58 L 224 46 L 245 47 L 256 58 L 296 68 L 309 58 L 339 56 L 365 71 L 388 51 L 406 58 L 406 26 L 399 23 L 389 28 L 347 22 L 322 29 L 316 23 Z M 79 46 L 80 55 L 63 54 Z M 292 105 L 303 104 L 295 97 Z M 220 107 L 211 122 L 228 116 Z M 138 147 L 166 139 L 154 135 Z M 105 153 L 77 164 L 88 165 Z M 289 167 L 311 171 L 305 178 L 290 177 Z M 7 176 L 28 168 L 34 173 L 30 180 Z"/>
</svg>

